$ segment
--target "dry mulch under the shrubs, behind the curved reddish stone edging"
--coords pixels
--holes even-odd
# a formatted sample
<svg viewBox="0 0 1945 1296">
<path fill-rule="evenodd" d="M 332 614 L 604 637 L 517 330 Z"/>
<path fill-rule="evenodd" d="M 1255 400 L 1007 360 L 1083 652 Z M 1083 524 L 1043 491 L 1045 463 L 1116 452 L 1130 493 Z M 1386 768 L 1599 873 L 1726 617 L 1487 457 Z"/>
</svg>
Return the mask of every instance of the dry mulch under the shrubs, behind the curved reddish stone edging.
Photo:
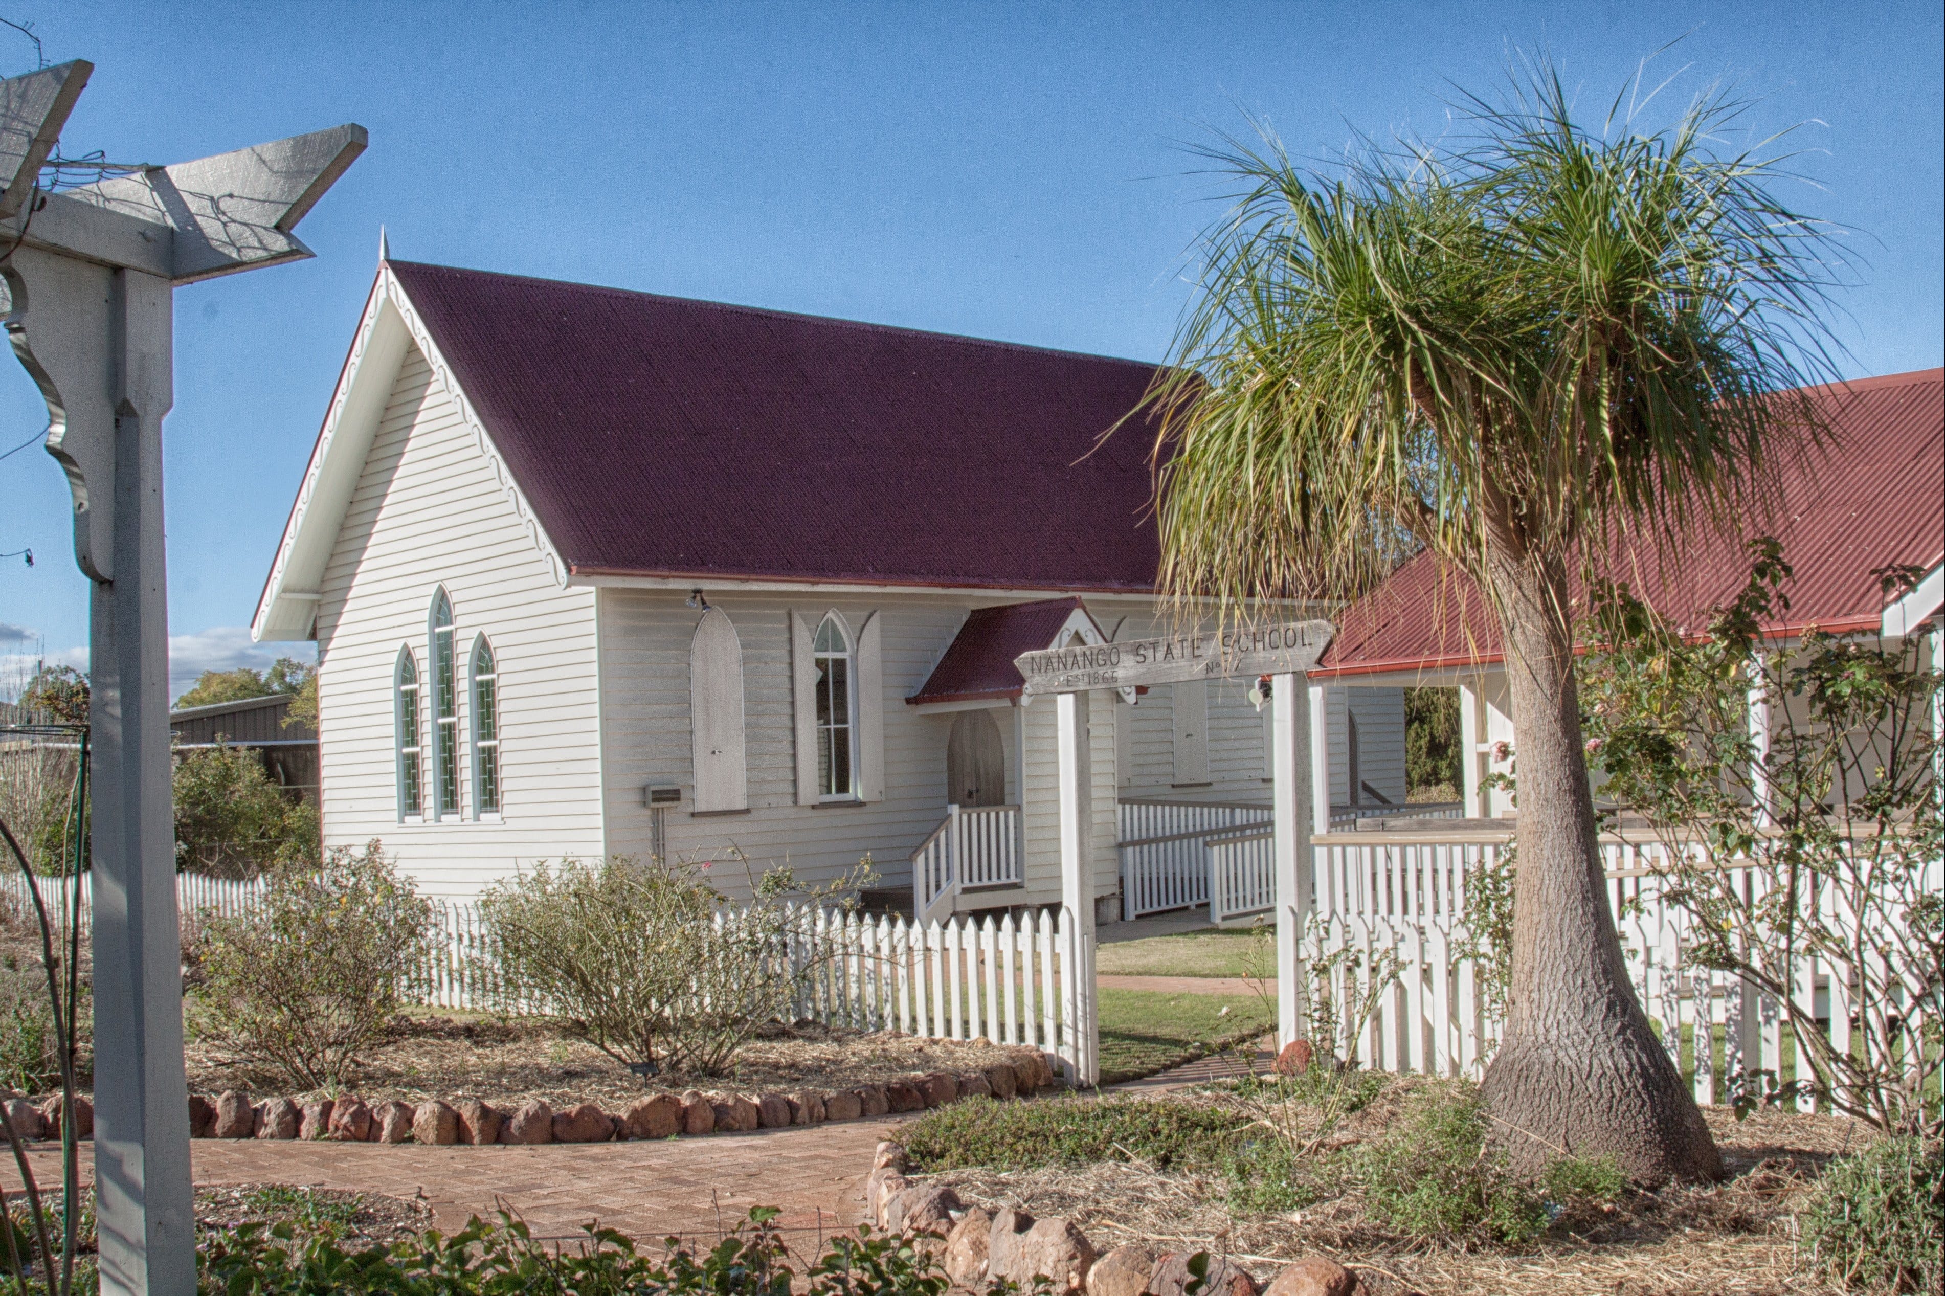
<svg viewBox="0 0 1945 1296">
<path fill-rule="evenodd" d="M 628 1103 L 644 1092 L 704 1088 L 838 1090 L 877 1084 L 930 1070 L 982 1070 L 1009 1061 L 1011 1053 L 984 1041 L 916 1039 L 912 1035 L 850 1029 L 774 1027 L 737 1053 L 727 1076 L 667 1072 L 644 1086 L 615 1059 L 593 1045 L 568 1039 L 533 1022 L 482 1016 L 403 1018 L 391 1035 L 370 1051 L 358 1080 L 366 1101 L 420 1101 L 465 1094 L 486 1101 L 545 1098 L 558 1105 L 576 1101 Z M 245 1090 L 305 1098 L 274 1074 L 237 1062 L 220 1045 L 187 1047 L 189 1088 L 200 1094 Z"/>
</svg>

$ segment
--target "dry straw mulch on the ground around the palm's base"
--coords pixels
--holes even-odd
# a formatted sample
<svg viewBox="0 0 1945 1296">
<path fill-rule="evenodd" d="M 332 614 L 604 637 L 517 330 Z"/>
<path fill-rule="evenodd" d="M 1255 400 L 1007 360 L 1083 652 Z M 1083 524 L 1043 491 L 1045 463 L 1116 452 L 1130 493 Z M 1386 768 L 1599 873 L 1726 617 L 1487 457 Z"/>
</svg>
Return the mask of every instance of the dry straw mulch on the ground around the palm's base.
<svg viewBox="0 0 1945 1296">
<path fill-rule="evenodd" d="M 1397 1111 L 1381 1096 L 1342 1136 L 1379 1129 Z M 1079 1224 L 1103 1251 L 1128 1242 L 1212 1249 L 1237 1257 L 1260 1280 L 1282 1263 L 1325 1253 L 1356 1267 L 1369 1296 L 1782 1296 L 1828 1294 L 1797 1265 L 1791 1212 L 1819 1168 L 1857 1146 L 1865 1131 L 1821 1115 L 1758 1113 L 1710 1123 L 1731 1177 L 1712 1187 L 1669 1187 L 1612 1208 L 1572 1238 L 1523 1251 L 1402 1245 L 1375 1230 L 1354 1197 L 1288 1214 L 1235 1214 L 1216 1173 L 1167 1173 L 1105 1162 L 1017 1173 L 965 1170 L 936 1175 L 961 1197 Z M 1338 1142 L 1338 1140 L 1332 1140 Z"/>
</svg>

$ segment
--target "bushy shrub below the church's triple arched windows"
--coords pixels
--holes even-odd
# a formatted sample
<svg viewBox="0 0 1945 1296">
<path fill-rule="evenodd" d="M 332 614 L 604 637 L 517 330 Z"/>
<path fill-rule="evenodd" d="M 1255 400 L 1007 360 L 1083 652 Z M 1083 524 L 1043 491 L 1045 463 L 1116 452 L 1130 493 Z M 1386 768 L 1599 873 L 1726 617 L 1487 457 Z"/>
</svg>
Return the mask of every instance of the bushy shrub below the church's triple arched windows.
<svg viewBox="0 0 1945 1296">
<path fill-rule="evenodd" d="M 282 870 L 259 907 L 204 920 L 196 1026 L 298 1086 L 350 1084 L 358 1051 L 399 1014 L 430 926 L 432 905 L 375 841 L 333 850 L 317 872 Z"/>
</svg>

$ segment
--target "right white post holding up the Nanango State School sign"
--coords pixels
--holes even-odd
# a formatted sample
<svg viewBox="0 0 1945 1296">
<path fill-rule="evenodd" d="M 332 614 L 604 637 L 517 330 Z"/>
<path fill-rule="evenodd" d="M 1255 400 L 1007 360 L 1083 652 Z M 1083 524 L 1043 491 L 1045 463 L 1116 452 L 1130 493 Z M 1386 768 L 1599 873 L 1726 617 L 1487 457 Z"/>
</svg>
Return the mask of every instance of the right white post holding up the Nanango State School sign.
<svg viewBox="0 0 1945 1296">
<path fill-rule="evenodd" d="M 1270 679 L 1272 732 L 1276 761 L 1272 798 L 1276 829 L 1276 1045 L 1309 1037 L 1309 996 L 1303 971 L 1303 926 L 1311 917 L 1311 829 L 1317 806 L 1317 769 L 1311 755 L 1319 749 L 1317 716 L 1323 712 L 1323 689 L 1303 675 L 1274 675 Z M 1328 829 L 1328 788 L 1323 800 L 1325 829 Z"/>
</svg>

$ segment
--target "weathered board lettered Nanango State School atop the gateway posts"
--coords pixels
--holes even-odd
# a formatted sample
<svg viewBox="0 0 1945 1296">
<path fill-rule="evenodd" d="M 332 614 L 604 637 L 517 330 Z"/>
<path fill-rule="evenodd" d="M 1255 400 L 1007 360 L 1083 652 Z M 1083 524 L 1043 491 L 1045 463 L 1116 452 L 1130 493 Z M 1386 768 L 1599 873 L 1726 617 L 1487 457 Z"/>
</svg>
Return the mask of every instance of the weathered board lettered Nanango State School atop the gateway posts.
<svg viewBox="0 0 1945 1296">
<path fill-rule="evenodd" d="M 1078 644 L 1023 652 L 1013 666 L 1027 693 L 1132 689 L 1183 679 L 1284 675 L 1317 666 L 1330 642 L 1328 621 L 1239 627 L 1210 634 L 1132 638 L 1124 644 Z"/>
</svg>

